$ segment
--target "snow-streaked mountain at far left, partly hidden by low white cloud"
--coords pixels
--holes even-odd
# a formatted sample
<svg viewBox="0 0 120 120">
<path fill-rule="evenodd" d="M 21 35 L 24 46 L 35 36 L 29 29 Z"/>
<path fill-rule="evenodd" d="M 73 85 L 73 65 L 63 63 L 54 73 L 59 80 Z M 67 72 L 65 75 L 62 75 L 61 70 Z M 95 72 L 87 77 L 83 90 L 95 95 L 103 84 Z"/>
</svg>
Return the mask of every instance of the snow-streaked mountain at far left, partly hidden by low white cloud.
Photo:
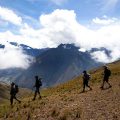
<svg viewBox="0 0 120 120">
<path fill-rule="evenodd" d="M 20 47 L 24 54 L 30 55 L 32 57 L 37 57 L 38 55 L 44 53 L 45 51 L 47 51 L 49 48 L 45 48 L 45 49 L 35 49 L 35 48 L 31 48 L 27 45 L 24 44 L 18 44 L 16 42 L 10 42 L 11 45 L 13 46 L 18 46 Z M 0 49 L 4 49 L 5 45 L 0 44 Z M 24 70 L 21 68 L 9 68 L 9 69 L 0 69 L 0 81 L 4 81 L 4 82 L 11 82 L 11 81 L 15 81 L 16 78 L 22 74 Z"/>
</svg>

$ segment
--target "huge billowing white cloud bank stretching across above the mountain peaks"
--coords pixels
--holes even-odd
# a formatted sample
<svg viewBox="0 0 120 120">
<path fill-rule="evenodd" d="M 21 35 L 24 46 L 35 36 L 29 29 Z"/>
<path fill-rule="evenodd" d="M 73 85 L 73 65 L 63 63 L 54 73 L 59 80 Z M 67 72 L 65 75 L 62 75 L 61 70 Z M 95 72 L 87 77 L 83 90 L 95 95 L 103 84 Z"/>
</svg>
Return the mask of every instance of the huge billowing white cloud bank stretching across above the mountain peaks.
<svg viewBox="0 0 120 120">
<path fill-rule="evenodd" d="M 41 27 L 34 29 L 27 23 L 19 29 L 19 34 L 11 31 L 1 32 L 0 40 L 17 42 L 33 48 L 52 48 L 59 44 L 74 43 L 84 50 L 104 47 L 111 51 L 110 56 L 105 52 L 92 53 L 97 61 L 112 62 L 120 58 L 120 20 L 118 18 L 97 18 L 91 20 L 89 27 L 77 21 L 73 10 L 54 10 L 50 14 L 39 17 Z M 97 26 L 97 29 L 92 27 Z"/>
</svg>

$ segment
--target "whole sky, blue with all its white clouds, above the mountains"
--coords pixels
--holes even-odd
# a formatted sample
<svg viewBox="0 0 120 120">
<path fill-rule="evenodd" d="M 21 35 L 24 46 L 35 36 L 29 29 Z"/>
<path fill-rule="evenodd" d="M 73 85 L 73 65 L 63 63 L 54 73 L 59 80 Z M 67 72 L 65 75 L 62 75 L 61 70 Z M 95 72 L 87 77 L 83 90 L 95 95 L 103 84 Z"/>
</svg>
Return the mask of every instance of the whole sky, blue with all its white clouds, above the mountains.
<svg viewBox="0 0 120 120">
<path fill-rule="evenodd" d="M 25 69 L 33 60 L 9 42 L 32 48 L 74 43 L 82 51 L 105 47 L 110 58 L 103 51 L 91 56 L 113 62 L 120 58 L 119 31 L 119 0 L 0 0 L 0 44 L 6 46 L 0 50 L 0 69 Z"/>
</svg>

